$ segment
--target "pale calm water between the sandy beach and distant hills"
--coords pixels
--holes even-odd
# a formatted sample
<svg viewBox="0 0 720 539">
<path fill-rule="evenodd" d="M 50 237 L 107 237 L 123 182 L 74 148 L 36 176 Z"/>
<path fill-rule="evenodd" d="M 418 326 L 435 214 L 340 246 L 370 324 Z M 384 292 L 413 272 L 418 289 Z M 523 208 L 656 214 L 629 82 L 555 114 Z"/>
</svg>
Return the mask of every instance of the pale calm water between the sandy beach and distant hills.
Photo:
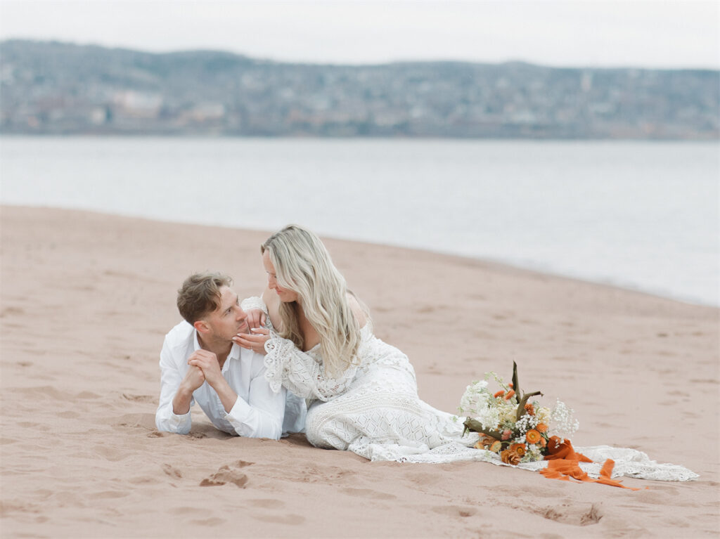
<svg viewBox="0 0 720 539">
<path fill-rule="evenodd" d="M 716 142 L 0 139 L 3 204 L 485 258 L 720 305 Z M 452 278 L 448 276 L 448 278 Z"/>
</svg>

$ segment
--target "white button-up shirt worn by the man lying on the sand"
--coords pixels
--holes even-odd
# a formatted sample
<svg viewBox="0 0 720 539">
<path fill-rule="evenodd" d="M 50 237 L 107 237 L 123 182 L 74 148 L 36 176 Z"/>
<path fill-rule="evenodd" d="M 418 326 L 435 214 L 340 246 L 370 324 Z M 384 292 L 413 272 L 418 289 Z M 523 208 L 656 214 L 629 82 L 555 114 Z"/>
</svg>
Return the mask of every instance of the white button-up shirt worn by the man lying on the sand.
<svg viewBox="0 0 720 539">
<path fill-rule="evenodd" d="M 190 432 L 191 412 L 174 414 L 173 399 L 190 367 L 187 360 L 195 350 L 200 350 L 197 330 L 185 321 L 165 336 L 160 353 L 160 404 L 155 415 L 158 430 Z M 285 388 L 274 393 L 264 375 L 264 356 L 233 343 L 222 365 L 223 378 L 238 394 L 233 409 L 225 412 L 220 397 L 207 381 L 193 391 L 190 407 L 197 402 L 215 427 L 232 435 L 277 440 L 287 432 L 302 432 L 307 412 L 305 401 L 288 394 Z"/>
</svg>

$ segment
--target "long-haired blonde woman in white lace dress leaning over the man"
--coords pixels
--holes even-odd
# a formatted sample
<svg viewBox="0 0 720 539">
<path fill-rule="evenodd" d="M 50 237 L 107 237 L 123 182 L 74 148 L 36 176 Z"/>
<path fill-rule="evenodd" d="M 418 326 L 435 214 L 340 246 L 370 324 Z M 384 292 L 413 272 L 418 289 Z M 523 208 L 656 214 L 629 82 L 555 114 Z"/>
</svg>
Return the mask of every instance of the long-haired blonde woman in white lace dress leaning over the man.
<svg viewBox="0 0 720 539">
<path fill-rule="evenodd" d="M 271 330 L 235 340 L 266 353 L 272 389 L 282 385 L 310 399 L 305 432 L 312 445 L 373 460 L 448 462 L 450 454 L 482 453 L 467 447 L 477 436 L 463 438 L 462 422 L 418 398 L 408 357 L 372 335 L 366 309 L 315 234 L 291 225 L 261 252 L 268 289 L 243 309 L 262 309 Z"/>
</svg>

